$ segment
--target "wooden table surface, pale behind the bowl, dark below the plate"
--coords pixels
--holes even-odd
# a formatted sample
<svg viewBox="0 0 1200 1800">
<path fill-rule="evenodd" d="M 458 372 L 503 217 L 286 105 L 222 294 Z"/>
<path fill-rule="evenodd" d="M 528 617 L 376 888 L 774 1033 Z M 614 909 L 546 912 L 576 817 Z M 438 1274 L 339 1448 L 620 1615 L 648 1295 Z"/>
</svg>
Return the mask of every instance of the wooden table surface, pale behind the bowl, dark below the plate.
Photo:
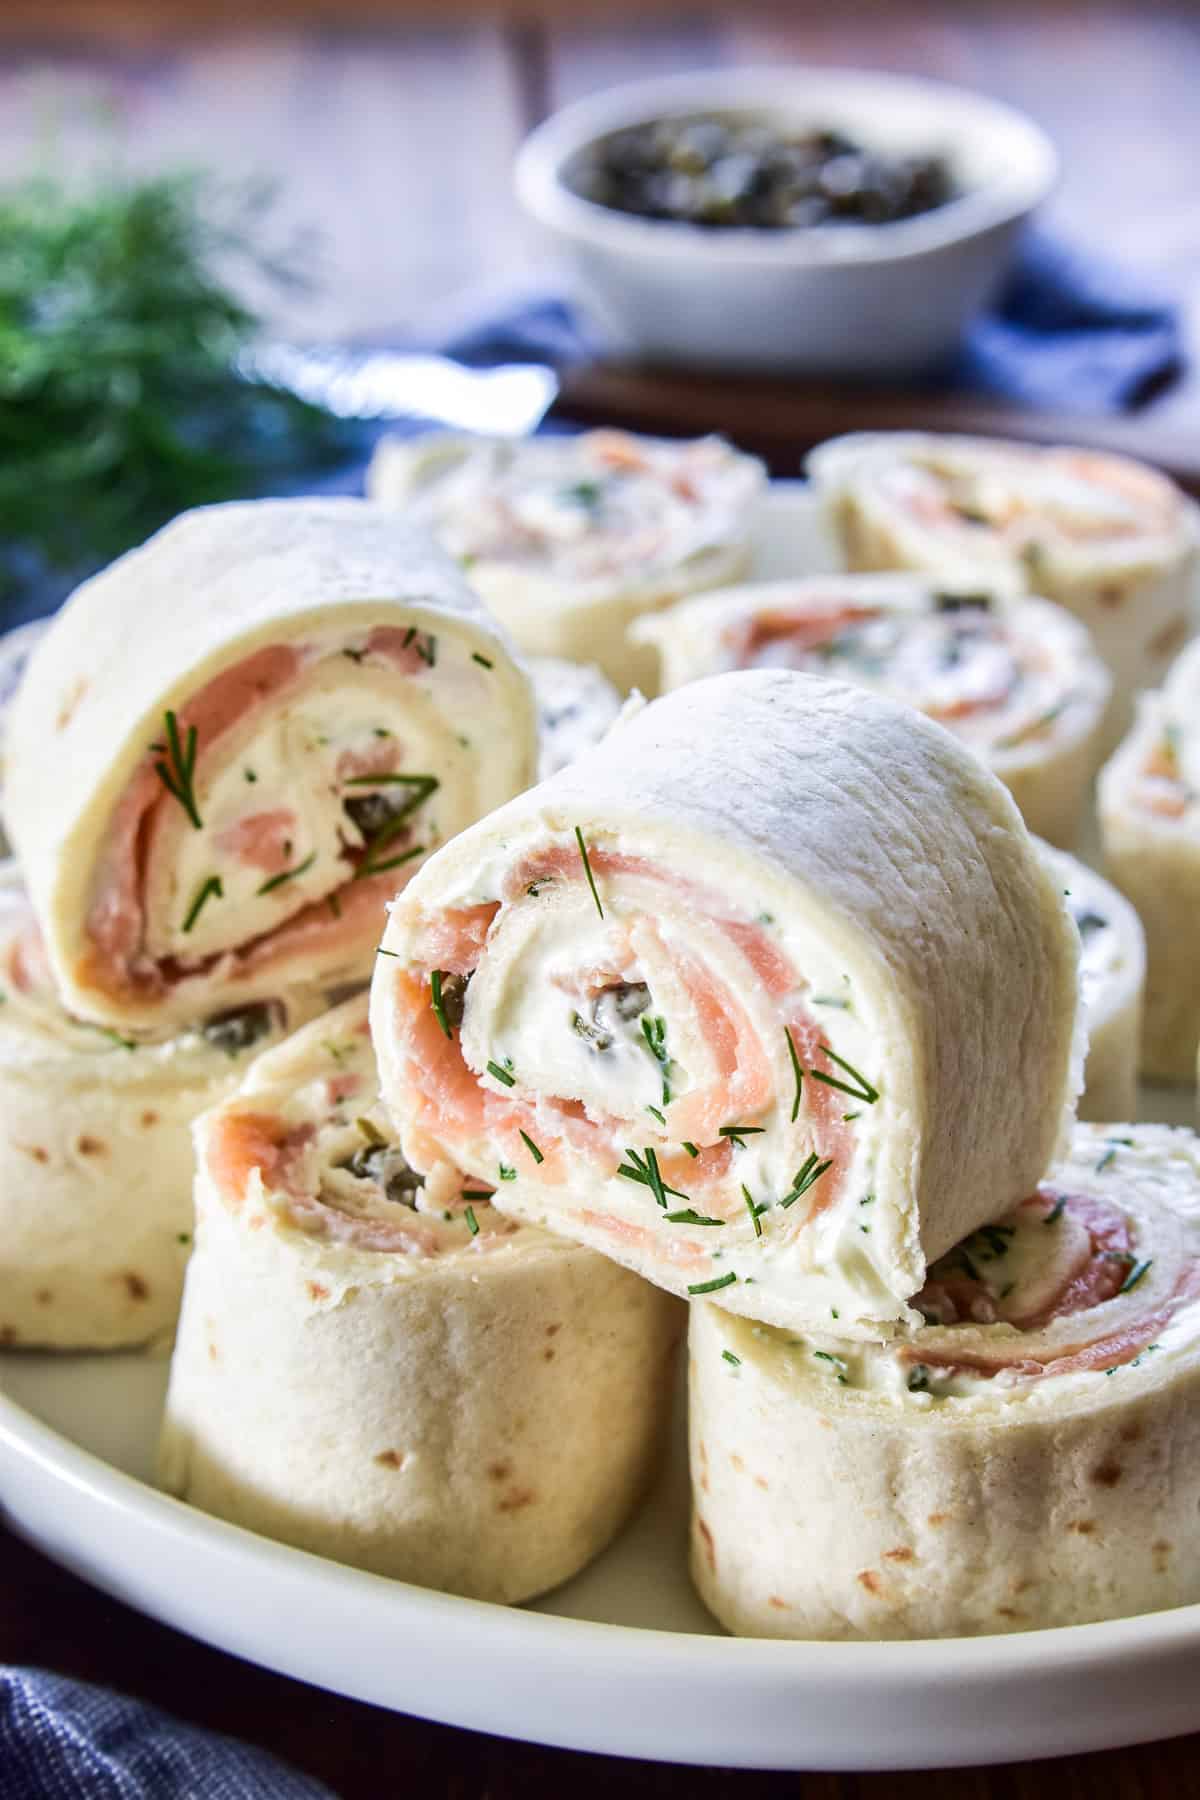
<svg viewBox="0 0 1200 1800">
<path fill-rule="evenodd" d="M 635 74 L 802 58 L 945 76 L 1024 106 L 1065 157 L 1049 223 L 1159 281 L 1200 328 L 1200 14 L 1142 0 L 912 0 L 849 5 L 565 5 L 516 22 L 414 20 L 272 0 L 5 0 L 0 176 L 45 153 L 193 160 L 286 180 L 284 211 L 324 239 L 318 295 L 282 319 L 315 335 L 437 331 L 480 293 L 540 272 L 509 160 L 547 110 Z M 369 18 L 365 14 L 371 14 Z M 403 16 L 401 16 L 403 14 Z M 336 16 L 336 23 L 331 22 Z M 556 22 L 558 20 L 558 22 Z M 1200 378 L 1142 416 L 1200 446 Z M 1105 1757 L 925 1775 L 730 1775 L 617 1764 L 381 1714 L 248 1667 L 56 1570 L 0 1526 L 0 1661 L 144 1694 L 250 1737 L 344 1800 L 590 1795 L 757 1800 L 1171 1800 L 1200 1791 L 1200 1737 Z M 295 1629 L 302 1629 L 297 1618 Z M 477 1672 L 486 1679 L 486 1670 Z M 637 1697 L 631 1696 L 631 1705 Z M 1020 1757 L 1020 1742 L 1013 1755 Z M 0 1771 L 0 1793 L 4 1771 Z"/>
</svg>

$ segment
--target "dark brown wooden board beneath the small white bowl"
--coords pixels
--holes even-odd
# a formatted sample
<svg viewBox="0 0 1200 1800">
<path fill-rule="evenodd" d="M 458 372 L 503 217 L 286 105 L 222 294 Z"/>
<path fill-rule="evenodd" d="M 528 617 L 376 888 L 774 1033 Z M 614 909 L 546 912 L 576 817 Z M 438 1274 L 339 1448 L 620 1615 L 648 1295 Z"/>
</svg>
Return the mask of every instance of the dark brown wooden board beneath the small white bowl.
<svg viewBox="0 0 1200 1800">
<path fill-rule="evenodd" d="M 968 432 L 1069 443 L 1153 463 L 1200 499 L 1200 443 L 1157 425 L 1151 412 L 1088 418 L 1031 412 L 975 394 L 777 376 L 700 374 L 633 364 L 578 364 L 560 371 L 554 414 L 578 425 L 698 437 L 720 432 L 761 455 L 772 475 L 799 475 L 813 445 L 840 432 Z"/>
</svg>

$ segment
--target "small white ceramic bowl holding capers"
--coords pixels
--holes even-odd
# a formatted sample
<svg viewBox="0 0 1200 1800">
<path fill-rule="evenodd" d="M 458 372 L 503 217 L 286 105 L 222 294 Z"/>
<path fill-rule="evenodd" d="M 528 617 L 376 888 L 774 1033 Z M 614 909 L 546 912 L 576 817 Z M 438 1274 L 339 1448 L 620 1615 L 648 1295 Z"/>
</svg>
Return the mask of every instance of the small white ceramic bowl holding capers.
<svg viewBox="0 0 1200 1800">
<path fill-rule="evenodd" d="M 943 155 L 957 200 L 889 225 L 779 230 L 642 220 L 572 193 L 608 131 L 705 112 L 833 128 L 869 149 Z M 516 193 L 617 355 L 804 374 L 912 374 L 954 349 L 1058 175 L 1045 133 L 999 101 L 856 68 L 730 68 L 633 81 L 554 113 Z"/>
</svg>

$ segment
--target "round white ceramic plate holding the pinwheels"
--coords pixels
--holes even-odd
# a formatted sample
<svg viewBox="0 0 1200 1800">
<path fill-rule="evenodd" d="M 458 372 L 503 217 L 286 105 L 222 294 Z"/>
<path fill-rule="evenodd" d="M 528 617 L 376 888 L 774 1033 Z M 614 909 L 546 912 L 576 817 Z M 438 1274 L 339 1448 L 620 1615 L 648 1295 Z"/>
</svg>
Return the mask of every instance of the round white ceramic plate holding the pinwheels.
<svg viewBox="0 0 1200 1800">
<path fill-rule="evenodd" d="M 763 572 L 820 560 L 802 491 L 779 484 Z M 1146 1094 L 1144 1116 L 1191 1123 L 1193 1105 Z M 5 1519 L 128 1604 L 318 1687 L 506 1737 L 775 1769 L 1007 1762 L 1200 1728 L 1200 1606 L 928 1643 L 721 1636 L 687 1582 L 682 1429 L 630 1530 L 536 1607 L 344 1570 L 155 1492 L 166 1377 L 148 1355 L 0 1355 Z"/>
</svg>

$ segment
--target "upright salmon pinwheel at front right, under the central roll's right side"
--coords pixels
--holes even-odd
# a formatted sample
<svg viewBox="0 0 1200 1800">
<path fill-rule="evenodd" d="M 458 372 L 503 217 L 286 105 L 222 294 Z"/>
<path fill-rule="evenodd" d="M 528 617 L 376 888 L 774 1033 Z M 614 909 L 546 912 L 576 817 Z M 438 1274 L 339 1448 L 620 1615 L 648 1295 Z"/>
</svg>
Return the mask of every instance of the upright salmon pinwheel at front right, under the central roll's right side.
<svg viewBox="0 0 1200 1800">
<path fill-rule="evenodd" d="M 693 1577 L 743 1636 L 1200 1600 L 1200 1148 L 1081 1125 L 887 1345 L 691 1314 Z"/>
</svg>

